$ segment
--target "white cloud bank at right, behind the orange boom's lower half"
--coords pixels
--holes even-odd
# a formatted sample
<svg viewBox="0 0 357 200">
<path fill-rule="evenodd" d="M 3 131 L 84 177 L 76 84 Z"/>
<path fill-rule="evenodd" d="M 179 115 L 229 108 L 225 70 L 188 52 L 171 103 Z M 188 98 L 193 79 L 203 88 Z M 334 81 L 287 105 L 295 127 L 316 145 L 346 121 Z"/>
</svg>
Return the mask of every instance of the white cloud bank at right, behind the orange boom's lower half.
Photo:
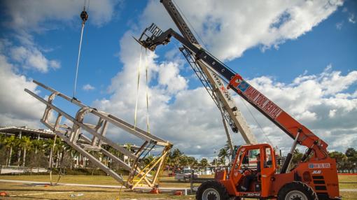
<svg viewBox="0 0 357 200">
<path fill-rule="evenodd" d="M 276 82 L 272 78 L 253 78 L 249 82 L 269 99 L 276 102 L 281 108 L 311 129 L 324 141 L 330 144 L 330 150 L 345 150 L 356 146 L 357 124 L 354 115 L 357 115 L 356 93 L 357 71 L 342 75 L 340 71 L 332 71 L 332 66 L 317 75 L 305 75 L 295 78 L 291 84 Z M 329 82 L 330 80 L 330 82 Z M 250 124 L 255 124 L 250 118 L 246 108 L 241 106 Z M 260 126 L 266 129 L 274 124 L 254 110 Z M 268 129 L 269 130 L 269 129 Z M 288 149 L 289 144 L 276 141 L 279 136 L 285 137 L 282 131 L 268 131 L 269 138 L 274 145 Z M 254 129 L 253 129 L 254 131 Z M 257 131 L 254 131 L 257 135 Z M 348 145 L 338 145 L 339 138 L 351 138 Z M 272 139 L 273 138 L 273 139 Z M 264 140 L 264 138 L 261 138 Z"/>
</svg>

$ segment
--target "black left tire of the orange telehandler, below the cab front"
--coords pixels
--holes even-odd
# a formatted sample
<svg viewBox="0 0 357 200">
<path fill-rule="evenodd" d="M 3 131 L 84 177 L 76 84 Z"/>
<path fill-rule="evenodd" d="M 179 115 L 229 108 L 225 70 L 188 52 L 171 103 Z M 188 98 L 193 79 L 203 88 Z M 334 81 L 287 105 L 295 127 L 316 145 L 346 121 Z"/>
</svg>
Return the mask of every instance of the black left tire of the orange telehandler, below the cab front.
<svg viewBox="0 0 357 200">
<path fill-rule="evenodd" d="M 216 180 L 208 180 L 198 187 L 196 192 L 197 200 L 226 200 L 230 195 L 224 185 Z"/>
</svg>

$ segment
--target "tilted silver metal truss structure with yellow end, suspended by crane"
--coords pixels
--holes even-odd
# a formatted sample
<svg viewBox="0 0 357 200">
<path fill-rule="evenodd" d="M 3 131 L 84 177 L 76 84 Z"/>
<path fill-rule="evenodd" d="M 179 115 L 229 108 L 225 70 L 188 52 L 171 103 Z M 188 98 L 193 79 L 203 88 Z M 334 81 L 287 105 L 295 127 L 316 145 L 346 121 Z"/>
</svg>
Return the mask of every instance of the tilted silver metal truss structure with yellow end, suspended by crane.
<svg viewBox="0 0 357 200">
<path fill-rule="evenodd" d="M 43 87 L 45 90 L 52 92 L 48 97 L 48 100 L 45 100 L 39 97 L 34 92 L 31 92 L 25 89 L 25 92 L 31 94 L 42 103 L 46 105 L 45 111 L 41 122 L 45 124 L 46 127 L 51 129 L 62 141 L 66 142 L 72 148 L 77 150 L 81 155 L 85 156 L 87 159 L 95 164 L 97 167 L 109 174 L 123 186 L 134 189 L 139 184 L 147 185 L 148 187 L 155 187 L 158 183 L 158 177 L 165 167 L 165 161 L 169 155 L 169 150 L 172 148 L 172 143 L 169 141 L 164 141 L 162 138 L 158 138 L 147 131 L 134 127 L 132 124 L 120 120 L 118 117 L 115 117 L 109 113 L 105 113 L 97 110 L 96 108 L 91 108 L 86 106 L 75 98 L 67 97 L 66 95 L 53 90 L 52 88 L 43 85 L 42 83 L 33 81 L 37 85 Z M 79 107 L 79 110 L 76 113 L 75 117 L 72 117 L 68 113 L 65 113 L 63 110 L 59 109 L 52 102 L 55 97 L 62 97 L 66 101 L 69 101 Z M 51 117 L 51 114 L 57 113 L 57 117 Z M 87 115 L 92 114 L 90 120 L 93 121 L 93 117 L 97 118 L 97 124 L 85 123 L 84 119 Z M 62 117 L 66 120 L 62 120 Z M 55 122 L 51 122 L 55 120 Z M 71 122 L 72 126 L 64 124 L 64 122 Z M 140 138 L 144 141 L 141 147 L 132 152 L 123 146 L 114 143 L 109 138 L 106 137 L 106 132 L 108 130 L 109 124 L 118 127 L 127 131 L 128 133 Z M 85 132 L 86 134 L 83 134 Z M 77 143 L 77 141 L 85 141 L 85 143 Z M 129 164 L 125 162 L 125 159 L 121 159 L 113 153 L 109 152 L 108 147 L 111 147 L 115 150 L 118 150 L 121 155 L 125 155 L 128 159 L 132 160 Z M 160 154 L 153 159 L 149 164 L 144 164 L 144 159 L 155 147 L 155 150 L 161 150 Z M 90 152 L 101 152 L 106 157 L 111 158 L 112 162 L 118 163 L 123 169 L 130 172 L 130 175 L 125 180 L 123 176 L 120 176 L 116 171 L 111 169 L 106 164 L 102 163 L 99 158 L 94 157 Z"/>
</svg>

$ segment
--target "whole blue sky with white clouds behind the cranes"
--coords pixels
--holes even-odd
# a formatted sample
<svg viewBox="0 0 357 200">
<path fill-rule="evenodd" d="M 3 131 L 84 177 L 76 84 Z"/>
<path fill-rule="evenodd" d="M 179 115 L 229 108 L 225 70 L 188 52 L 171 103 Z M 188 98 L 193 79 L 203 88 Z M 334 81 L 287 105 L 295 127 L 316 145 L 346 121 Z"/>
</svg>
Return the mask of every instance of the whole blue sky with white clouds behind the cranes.
<svg viewBox="0 0 357 200">
<path fill-rule="evenodd" d="M 30 83 L 32 79 L 73 94 L 83 1 L 43 1 L 41 6 L 38 2 L 2 1 L 0 5 L 0 69 L 5 76 L 0 86 L 0 125 L 41 127 L 43 107 L 22 92 L 25 87 L 39 90 Z M 357 124 L 350 119 L 357 113 L 356 2 L 176 3 L 210 52 L 328 141 L 331 150 L 346 149 L 339 137 L 350 146 L 357 145 Z M 91 1 L 88 14 L 76 97 L 132 122 L 140 47 L 131 36 L 139 36 L 151 22 L 162 29 L 176 27 L 159 1 Z M 190 155 L 211 157 L 211 148 L 225 143 L 221 119 L 179 46 L 172 41 L 155 53 L 148 52 L 152 131 Z M 18 86 L 10 92 L 9 83 Z M 85 90 L 85 85 L 91 87 Z M 141 79 L 139 122 L 143 128 L 144 87 Z M 267 141 L 235 98 L 258 140 Z M 65 104 L 59 106 L 76 112 Z M 286 136 L 251 112 L 273 145 L 288 149 L 289 144 L 283 143 Z M 338 125 L 342 122 L 344 126 Z M 336 125 L 325 129 L 327 124 Z M 125 133 L 119 134 L 125 138 Z M 111 137 L 124 142 L 114 133 Z M 239 135 L 233 137 L 236 144 L 242 143 Z M 135 143 L 133 138 L 127 140 Z"/>
</svg>

